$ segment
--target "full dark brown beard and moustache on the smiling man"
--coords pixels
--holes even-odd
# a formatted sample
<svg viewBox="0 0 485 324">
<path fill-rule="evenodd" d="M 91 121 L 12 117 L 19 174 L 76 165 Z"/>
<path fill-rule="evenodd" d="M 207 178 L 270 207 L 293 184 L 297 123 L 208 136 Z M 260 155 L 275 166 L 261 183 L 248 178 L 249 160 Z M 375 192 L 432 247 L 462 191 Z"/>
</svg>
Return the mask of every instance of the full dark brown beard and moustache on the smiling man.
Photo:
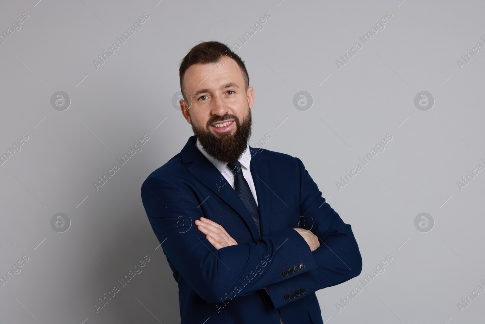
<svg viewBox="0 0 485 324">
<path fill-rule="evenodd" d="M 209 127 L 211 127 L 211 124 L 225 119 L 234 119 L 236 131 L 233 135 L 226 133 L 214 134 L 210 131 Z M 247 148 L 248 139 L 251 136 L 251 126 L 251 110 L 249 109 L 248 116 L 242 122 L 236 115 L 213 116 L 207 121 L 205 129 L 192 123 L 192 130 L 204 151 L 219 161 L 233 163 L 241 157 Z"/>
</svg>

